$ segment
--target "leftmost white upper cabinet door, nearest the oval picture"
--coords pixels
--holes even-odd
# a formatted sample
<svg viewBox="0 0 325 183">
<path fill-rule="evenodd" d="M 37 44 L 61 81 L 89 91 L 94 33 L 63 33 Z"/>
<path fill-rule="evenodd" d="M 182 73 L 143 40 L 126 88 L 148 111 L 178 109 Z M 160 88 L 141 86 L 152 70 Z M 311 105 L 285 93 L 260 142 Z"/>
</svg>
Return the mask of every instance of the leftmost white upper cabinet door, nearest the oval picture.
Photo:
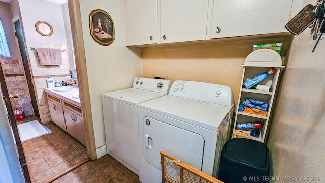
<svg viewBox="0 0 325 183">
<path fill-rule="evenodd" d="M 157 1 L 125 0 L 126 46 L 157 43 Z"/>
</svg>

